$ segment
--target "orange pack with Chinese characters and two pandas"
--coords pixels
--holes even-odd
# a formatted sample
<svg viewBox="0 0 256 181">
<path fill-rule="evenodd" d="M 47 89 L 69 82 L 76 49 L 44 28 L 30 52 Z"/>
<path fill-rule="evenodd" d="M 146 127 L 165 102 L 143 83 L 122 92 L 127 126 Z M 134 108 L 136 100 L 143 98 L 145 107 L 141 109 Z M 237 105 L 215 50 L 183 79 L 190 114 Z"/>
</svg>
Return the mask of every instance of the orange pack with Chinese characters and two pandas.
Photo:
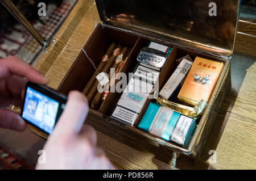
<svg viewBox="0 0 256 181">
<path fill-rule="evenodd" d="M 223 66 L 222 62 L 196 57 L 178 99 L 193 106 L 202 99 L 208 102 Z"/>
</svg>

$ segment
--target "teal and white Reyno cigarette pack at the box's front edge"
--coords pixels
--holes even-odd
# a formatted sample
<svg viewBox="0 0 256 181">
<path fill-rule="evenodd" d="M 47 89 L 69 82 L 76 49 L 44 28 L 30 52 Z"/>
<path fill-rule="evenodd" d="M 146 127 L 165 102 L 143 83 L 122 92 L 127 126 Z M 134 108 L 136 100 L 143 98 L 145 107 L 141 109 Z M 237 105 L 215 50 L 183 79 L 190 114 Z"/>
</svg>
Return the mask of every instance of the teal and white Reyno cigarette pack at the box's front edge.
<svg viewBox="0 0 256 181">
<path fill-rule="evenodd" d="M 196 121 L 159 104 L 150 103 L 138 128 L 186 148 L 196 129 Z"/>
</svg>

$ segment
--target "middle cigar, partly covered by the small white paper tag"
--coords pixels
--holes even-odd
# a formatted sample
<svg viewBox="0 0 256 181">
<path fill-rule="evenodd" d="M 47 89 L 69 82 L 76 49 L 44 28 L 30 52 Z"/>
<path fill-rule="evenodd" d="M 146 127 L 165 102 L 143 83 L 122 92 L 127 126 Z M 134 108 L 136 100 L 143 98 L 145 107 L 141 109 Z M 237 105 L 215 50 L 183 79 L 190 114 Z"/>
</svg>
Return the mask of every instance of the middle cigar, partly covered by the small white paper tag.
<svg viewBox="0 0 256 181">
<path fill-rule="evenodd" d="M 109 72 L 110 67 L 112 66 L 113 62 L 115 61 L 115 58 L 117 58 L 117 56 L 119 55 L 121 49 L 122 49 L 121 45 L 118 45 L 117 48 L 114 49 L 114 51 L 112 53 L 112 56 L 106 62 L 105 66 L 101 70 L 101 72 L 104 72 L 104 73 Z M 90 90 L 87 94 L 88 103 L 90 103 L 92 101 L 93 96 L 95 95 L 95 93 L 97 91 L 97 87 L 98 87 L 98 81 L 97 81 L 97 79 L 95 79 L 95 81 L 93 82 L 92 87 L 90 88 Z"/>
</svg>

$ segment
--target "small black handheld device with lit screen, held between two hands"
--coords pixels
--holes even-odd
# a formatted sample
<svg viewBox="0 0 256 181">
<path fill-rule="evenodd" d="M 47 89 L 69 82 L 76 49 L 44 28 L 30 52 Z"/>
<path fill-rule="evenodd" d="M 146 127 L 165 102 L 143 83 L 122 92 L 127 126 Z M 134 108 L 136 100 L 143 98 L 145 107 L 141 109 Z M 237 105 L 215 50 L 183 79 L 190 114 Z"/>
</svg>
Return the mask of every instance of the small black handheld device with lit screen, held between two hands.
<svg viewBox="0 0 256 181">
<path fill-rule="evenodd" d="M 47 86 L 28 82 L 21 116 L 28 124 L 51 134 L 67 100 L 67 96 Z"/>
</svg>

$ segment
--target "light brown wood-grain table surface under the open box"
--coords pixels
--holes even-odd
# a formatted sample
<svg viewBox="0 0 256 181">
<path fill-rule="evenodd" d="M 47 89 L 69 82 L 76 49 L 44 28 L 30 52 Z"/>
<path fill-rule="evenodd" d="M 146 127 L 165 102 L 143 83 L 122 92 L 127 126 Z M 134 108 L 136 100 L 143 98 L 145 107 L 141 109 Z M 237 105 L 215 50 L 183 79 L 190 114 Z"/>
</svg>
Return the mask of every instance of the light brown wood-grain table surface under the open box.
<svg viewBox="0 0 256 181">
<path fill-rule="evenodd" d="M 99 22 L 94 1 L 77 3 L 51 45 L 35 61 L 35 68 L 50 79 L 49 86 L 54 89 L 59 86 Z M 240 23 L 238 28 L 240 35 L 238 33 L 231 60 L 232 90 L 226 96 L 203 154 L 196 162 L 180 155 L 176 161 L 177 169 L 256 169 L 256 63 L 252 56 L 255 56 L 256 42 L 254 25 L 252 22 L 251 31 L 247 31 L 246 23 Z M 247 32 L 243 33 L 243 30 Z M 123 137 L 123 142 L 117 141 L 115 137 L 122 137 L 122 133 L 113 130 L 104 132 L 104 125 L 94 126 L 98 135 L 97 146 L 105 150 L 118 169 L 173 168 L 171 151 L 138 144 L 134 137 Z M 217 163 L 207 161 L 211 156 L 210 150 L 216 150 Z"/>
</svg>

